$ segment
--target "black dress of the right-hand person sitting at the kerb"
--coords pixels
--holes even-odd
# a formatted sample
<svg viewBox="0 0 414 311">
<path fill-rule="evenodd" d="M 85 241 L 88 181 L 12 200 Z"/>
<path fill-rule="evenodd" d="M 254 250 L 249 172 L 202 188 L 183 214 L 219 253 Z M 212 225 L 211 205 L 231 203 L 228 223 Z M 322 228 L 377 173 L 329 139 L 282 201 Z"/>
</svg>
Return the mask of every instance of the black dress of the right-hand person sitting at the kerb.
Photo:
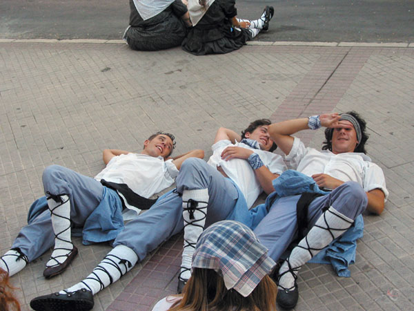
<svg viewBox="0 0 414 311">
<path fill-rule="evenodd" d="M 215 0 L 181 47 L 194 55 L 224 54 L 241 48 L 251 38 L 245 28 L 233 28 L 231 19 L 236 15 L 235 0 Z"/>
</svg>

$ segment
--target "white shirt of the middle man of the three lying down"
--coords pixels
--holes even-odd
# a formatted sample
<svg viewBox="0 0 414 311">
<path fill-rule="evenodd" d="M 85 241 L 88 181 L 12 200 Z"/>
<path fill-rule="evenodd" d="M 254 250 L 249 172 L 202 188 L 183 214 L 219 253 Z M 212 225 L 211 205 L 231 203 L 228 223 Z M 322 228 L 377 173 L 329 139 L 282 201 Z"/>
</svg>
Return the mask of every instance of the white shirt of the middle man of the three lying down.
<svg viewBox="0 0 414 311">
<path fill-rule="evenodd" d="M 262 159 L 263 164 L 272 173 L 277 173 L 279 175 L 282 174 L 286 171 L 286 165 L 284 164 L 281 156 L 269 151 L 254 149 L 242 142 L 232 144 L 230 140 L 220 140 L 219 142 L 213 144 L 211 147 L 211 149 L 213 149 L 213 156 L 211 156 L 208 160 L 208 164 L 213 167 L 221 167 L 223 169 L 227 176 L 231 178 L 231 180 L 236 183 L 237 187 L 239 187 L 240 191 L 242 191 L 242 194 L 244 194 L 244 198 L 247 202 L 247 207 L 250 209 L 259 194 L 262 193 L 263 188 L 255 176 L 255 171 L 252 167 L 250 167 L 247 160 L 232 159 L 226 161 L 221 159 L 221 152 L 230 146 L 250 149 L 257 153 Z"/>
</svg>

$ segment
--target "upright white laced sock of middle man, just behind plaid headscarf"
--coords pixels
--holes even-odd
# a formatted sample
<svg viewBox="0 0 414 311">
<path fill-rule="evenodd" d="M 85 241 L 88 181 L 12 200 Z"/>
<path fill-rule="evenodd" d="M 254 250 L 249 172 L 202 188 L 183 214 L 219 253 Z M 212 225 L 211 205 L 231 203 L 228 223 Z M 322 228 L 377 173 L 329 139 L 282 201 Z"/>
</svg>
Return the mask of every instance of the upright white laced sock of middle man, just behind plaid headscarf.
<svg viewBox="0 0 414 311">
<path fill-rule="evenodd" d="M 191 261 L 195 244 L 204 230 L 206 223 L 208 189 L 184 190 L 183 192 L 183 218 L 184 218 L 184 249 L 179 278 L 190 279 Z M 192 201 L 193 200 L 193 201 Z M 194 210 L 190 209 L 191 202 L 197 204 Z"/>
</svg>

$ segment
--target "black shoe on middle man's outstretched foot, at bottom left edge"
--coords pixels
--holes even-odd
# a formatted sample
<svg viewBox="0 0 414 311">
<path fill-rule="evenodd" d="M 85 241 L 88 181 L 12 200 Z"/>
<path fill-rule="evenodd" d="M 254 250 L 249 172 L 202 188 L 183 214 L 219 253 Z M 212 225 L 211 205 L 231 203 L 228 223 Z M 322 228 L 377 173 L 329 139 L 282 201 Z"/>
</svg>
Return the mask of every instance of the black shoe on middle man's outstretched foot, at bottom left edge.
<svg viewBox="0 0 414 311">
<path fill-rule="evenodd" d="M 30 301 L 30 307 L 36 311 L 86 311 L 93 308 L 92 292 L 82 288 L 66 294 L 48 294 Z"/>
</svg>

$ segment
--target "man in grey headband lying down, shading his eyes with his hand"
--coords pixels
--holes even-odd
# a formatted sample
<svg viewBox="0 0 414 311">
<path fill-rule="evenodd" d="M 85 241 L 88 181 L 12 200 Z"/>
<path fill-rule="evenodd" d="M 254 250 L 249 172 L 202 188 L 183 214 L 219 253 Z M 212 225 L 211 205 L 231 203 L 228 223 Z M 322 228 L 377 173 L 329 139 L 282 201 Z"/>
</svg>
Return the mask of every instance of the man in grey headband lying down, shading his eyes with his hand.
<svg viewBox="0 0 414 311">
<path fill-rule="evenodd" d="M 322 126 L 326 127 L 322 152 L 290 136 Z M 331 191 L 322 196 L 268 197 L 268 214 L 254 230 L 274 261 L 279 261 L 294 238 L 300 240 L 276 276 L 277 303 L 291 309 L 299 296 L 296 280 L 300 267 L 344 234 L 365 209 L 381 214 L 388 191 L 382 169 L 366 156 L 366 122 L 355 111 L 271 124 L 269 133 L 286 154 L 290 167 Z M 298 232 L 303 235 L 298 236 Z"/>
</svg>

